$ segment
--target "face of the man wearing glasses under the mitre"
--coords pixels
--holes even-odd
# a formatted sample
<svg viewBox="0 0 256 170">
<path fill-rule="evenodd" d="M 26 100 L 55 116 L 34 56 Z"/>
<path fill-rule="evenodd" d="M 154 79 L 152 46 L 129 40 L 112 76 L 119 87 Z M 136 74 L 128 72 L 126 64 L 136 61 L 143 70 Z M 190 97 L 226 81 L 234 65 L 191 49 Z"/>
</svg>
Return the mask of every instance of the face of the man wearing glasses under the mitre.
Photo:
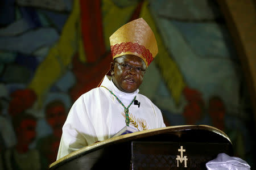
<svg viewBox="0 0 256 170">
<path fill-rule="evenodd" d="M 130 68 L 130 66 L 133 66 Z M 117 88 L 132 93 L 141 86 L 146 64 L 143 59 L 134 55 L 117 57 L 111 65 L 111 75 Z"/>
</svg>

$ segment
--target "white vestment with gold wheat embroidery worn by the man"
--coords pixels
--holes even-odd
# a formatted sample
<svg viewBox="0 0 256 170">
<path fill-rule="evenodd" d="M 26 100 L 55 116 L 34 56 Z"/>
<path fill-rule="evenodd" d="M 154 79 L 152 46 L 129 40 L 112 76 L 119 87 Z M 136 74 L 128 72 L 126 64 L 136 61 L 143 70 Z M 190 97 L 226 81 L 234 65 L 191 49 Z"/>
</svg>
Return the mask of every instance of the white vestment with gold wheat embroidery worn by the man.
<svg viewBox="0 0 256 170">
<path fill-rule="evenodd" d="M 141 124 L 147 129 L 166 126 L 161 111 L 146 96 L 138 94 L 139 90 L 132 94 L 119 91 L 108 76 L 101 86 L 111 90 L 125 107 L 137 96 L 141 105 L 131 104 L 129 108 L 129 116 L 134 120 L 130 122 L 131 127 L 137 124 L 138 129 L 143 130 Z M 94 88 L 73 104 L 63 125 L 57 160 L 96 141 L 104 141 L 126 126 L 123 106 L 106 88 Z"/>
</svg>

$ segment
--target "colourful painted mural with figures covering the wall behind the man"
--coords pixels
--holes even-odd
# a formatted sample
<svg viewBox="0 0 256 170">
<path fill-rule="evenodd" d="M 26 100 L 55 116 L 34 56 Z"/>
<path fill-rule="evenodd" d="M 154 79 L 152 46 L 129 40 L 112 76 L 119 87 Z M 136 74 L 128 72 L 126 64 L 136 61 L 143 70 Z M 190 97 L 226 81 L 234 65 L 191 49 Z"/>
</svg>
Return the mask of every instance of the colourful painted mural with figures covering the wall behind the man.
<svg viewBox="0 0 256 170">
<path fill-rule="evenodd" d="M 0 4 L 0 169 L 47 169 L 56 160 L 73 102 L 109 70 L 109 36 L 139 17 L 159 47 L 140 91 L 166 125 L 215 126 L 229 135 L 236 156 L 255 164 L 253 112 L 215 1 Z"/>
</svg>

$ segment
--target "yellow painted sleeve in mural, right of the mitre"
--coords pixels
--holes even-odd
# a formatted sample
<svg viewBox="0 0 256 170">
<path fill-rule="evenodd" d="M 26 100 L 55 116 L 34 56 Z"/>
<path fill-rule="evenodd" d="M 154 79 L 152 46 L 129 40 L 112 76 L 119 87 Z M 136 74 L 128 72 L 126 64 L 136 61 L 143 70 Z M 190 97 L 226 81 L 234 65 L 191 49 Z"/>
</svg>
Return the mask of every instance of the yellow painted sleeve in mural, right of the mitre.
<svg viewBox="0 0 256 170">
<path fill-rule="evenodd" d="M 156 29 L 155 22 L 152 19 L 150 10 L 148 9 L 147 1 L 143 3 L 141 17 L 146 20 L 152 31 L 155 33 L 155 38 L 158 42 L 158 55 L 154 59 L 155 63 L 159 66 L 163 79 L 167 83 L 167 87 L 171 91 L 176 104 L 179 104 L 181 93 L 185 87 L 185 82 L 177 64 L 171 58 L 170 54 L 168 54 L 161 36 Z"/>
</svg>

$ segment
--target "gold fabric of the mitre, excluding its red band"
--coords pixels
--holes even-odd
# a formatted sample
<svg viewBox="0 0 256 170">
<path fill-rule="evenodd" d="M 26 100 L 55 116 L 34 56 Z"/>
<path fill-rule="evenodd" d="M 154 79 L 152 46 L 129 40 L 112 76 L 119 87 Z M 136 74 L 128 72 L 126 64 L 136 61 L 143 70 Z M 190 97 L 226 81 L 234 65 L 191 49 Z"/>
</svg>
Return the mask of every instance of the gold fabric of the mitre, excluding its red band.
<svg viewBox="0 0 256 170">
<path fill-rule="evenodd" d="M 115 55 L 113 55 L 112 50 L 113 59 L 125 54 L 133 54 L 142 58 L 148 67 L 150 62 L 158 53 L 158 45 L 156 43 L 155 35 L 143 18 L 135 19 L 123 25 L 109 37 L 109 40 L 111 48 L 113 48 L 115 45 L 121 44 L 122 42 L 132 42 L 133 44 L 138 43 L 139 45 L 144 46 L 144 48 L 148 49 L 152 54 L 151 59 L 148 60 L 146 59 L 145 55 L 143 56 L 143 54 L 138 54 L 136 50 L 126 51 L 121 49 L 119 50 L 119 53 Z"/>
</svg>

